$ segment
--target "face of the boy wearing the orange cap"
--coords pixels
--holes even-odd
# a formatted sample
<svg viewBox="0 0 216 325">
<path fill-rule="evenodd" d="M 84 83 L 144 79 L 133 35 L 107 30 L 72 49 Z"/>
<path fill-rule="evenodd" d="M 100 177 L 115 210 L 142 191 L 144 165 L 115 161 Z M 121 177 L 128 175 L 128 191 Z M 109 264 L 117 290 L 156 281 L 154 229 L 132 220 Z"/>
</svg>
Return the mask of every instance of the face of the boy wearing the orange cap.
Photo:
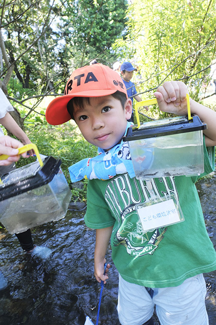
<svg viewBox="0 0 216 325">
<path fill-rule="evenodd" d="M 89 98 L 84 108 L 74 105 L 74 119 L 83 137 L 104 150 L 111 149 L 124 136 L 131 113 L 130 99 L 123 109 L 120 101 L 111 95 Z"/>
</svg>

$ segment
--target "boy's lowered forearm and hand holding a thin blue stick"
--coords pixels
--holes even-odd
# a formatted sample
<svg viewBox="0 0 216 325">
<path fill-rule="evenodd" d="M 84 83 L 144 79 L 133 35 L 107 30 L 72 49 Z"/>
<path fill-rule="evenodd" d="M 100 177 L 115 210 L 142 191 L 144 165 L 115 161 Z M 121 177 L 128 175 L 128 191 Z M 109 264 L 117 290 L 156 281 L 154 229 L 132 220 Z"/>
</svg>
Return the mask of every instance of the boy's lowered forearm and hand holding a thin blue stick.
<svg viewBox="0 0 216 325">
<path fill-rule="evenodd" d="M 106 273 L 104 275 L 104 264 L 106 263 L 105 254 L 107 251 L 107 246 L 111 237 L 113 226 L 97 229 L 96 230 L 96 244 L 95 244 L 95 277 L 98 282 L 108 279 L 108 271 L 110 264 L 107 264 Z"/>
</svg>

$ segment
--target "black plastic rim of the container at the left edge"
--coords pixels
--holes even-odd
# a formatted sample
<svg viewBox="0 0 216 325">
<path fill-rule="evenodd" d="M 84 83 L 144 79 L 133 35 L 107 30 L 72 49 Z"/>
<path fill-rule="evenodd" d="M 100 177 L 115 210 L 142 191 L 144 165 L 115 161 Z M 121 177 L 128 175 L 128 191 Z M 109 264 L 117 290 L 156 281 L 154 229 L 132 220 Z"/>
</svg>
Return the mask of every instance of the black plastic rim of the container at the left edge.
<svg viewBox="0 0 216 325">
<path fill-rule="evenodd" d="M 43 163 L 44 165 L 37 171 L 36 175 L 1 187 L 0 202 L 50 183 L 53 177 L 59 172 L 61 160 L 48 156 L 44 159 Z M 2 177 L 3 183 L 6 175 Z"/>
</svg>

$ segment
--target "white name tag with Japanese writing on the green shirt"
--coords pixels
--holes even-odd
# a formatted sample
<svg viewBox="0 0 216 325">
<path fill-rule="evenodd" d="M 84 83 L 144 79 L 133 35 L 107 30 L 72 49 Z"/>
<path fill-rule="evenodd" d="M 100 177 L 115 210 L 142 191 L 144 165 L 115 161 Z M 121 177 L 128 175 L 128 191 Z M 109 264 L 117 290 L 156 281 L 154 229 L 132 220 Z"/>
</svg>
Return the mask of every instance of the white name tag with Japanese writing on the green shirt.
<svg viewBox="0 0 216 325">
<path fill-rule="evenodd" d="M 142 223 L 144 231 L 149 231 L 164 226 L 184 221 L 184 217 L 178 202 L 174 199 L 166 200 L 160 198 L 163 202 L 151 202 L 146 206 L 137 206 L 137 213 Z M 175 202 L 174 202 L 175 201 Z"/>
</svg>

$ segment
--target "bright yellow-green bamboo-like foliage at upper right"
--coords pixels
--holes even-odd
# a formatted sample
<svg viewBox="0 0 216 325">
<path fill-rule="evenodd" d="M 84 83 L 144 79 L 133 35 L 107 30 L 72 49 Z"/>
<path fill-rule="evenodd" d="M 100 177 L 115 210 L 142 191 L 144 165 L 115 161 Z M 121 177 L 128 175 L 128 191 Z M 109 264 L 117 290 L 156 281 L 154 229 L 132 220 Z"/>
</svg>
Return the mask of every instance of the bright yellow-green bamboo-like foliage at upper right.
<svg viewBox="0 0 216 325">
<path fill-rule="evenodd" d="M 142 99 L 165 81 L 187 83 L 195 100 L 203 96 L 215 59 L 215 0 L 134 0 L 128 10 L 128 35 L 114 50 L 140 68 Z M 147 93 L 146 93 L 147 91 Z"/>
</svg>

